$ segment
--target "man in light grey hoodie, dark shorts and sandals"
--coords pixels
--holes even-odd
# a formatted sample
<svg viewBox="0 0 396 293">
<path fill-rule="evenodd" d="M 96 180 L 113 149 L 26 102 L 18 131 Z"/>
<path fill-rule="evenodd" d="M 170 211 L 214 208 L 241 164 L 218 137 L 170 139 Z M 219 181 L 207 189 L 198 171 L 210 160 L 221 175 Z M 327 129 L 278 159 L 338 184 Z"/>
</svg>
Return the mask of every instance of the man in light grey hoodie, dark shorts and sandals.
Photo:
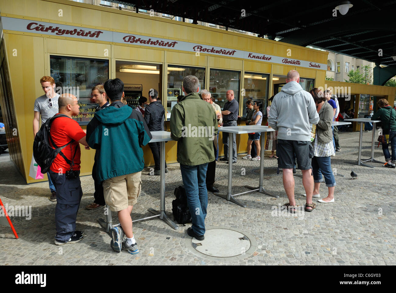
<svg viewBox="0 0 396 293">
<path fill-rule="evenodd" d="M 311 175 L 310 124 L 319 122 L 314 99 L 299 84 L 300 75 L 296 70 L 287 73 L 286 85 L 274 96 L 268 125 L 278 131 L 278 167 L 283 170 L 283 186 L 289 202 L 284 204 L 292 213 L 297 212 L 294 199 L 294 154 L 298 168 L 303 172 L 303 185 L 307 194 L 306 211 L 311 211 L 314 179 Z"/>
</svg>

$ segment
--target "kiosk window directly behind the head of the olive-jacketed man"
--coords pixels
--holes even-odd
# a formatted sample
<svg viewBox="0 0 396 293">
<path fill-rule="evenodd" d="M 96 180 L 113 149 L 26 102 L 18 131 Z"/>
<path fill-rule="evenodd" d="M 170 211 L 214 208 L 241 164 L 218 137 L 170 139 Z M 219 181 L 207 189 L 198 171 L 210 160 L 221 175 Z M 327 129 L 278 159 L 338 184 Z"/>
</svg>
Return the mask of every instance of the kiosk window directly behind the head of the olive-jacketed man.
<svg viewBox="0 0 396 293">
<path fill-rule="evenodd" d="M 168 88 L 166 93 L 166 120 L 170 120 L 173 106 L 179 96 L 184 96 L 183 79 L 194 75 L 199 80 L 199 91 L 205 89 L 205 68 L 168 65 Z"/>
</svg>

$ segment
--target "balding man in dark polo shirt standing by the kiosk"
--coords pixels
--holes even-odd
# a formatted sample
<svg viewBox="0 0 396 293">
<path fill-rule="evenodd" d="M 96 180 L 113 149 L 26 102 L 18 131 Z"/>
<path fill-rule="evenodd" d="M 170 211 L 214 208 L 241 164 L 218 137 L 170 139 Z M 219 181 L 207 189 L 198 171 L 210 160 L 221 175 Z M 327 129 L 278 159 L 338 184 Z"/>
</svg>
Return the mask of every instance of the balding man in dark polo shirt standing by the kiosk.
<svg viewBox="0 0 396 293">
<path fill-rule="evenodd" d="M 227 103 L 225 103 L 223 111 L 223 126 L 236 126 L 236 120 L 238 119 L 238 110 L 239 105 L 238 102 L 234 98 L 234 91 L 229 90 L 226 93 Z M 228 161 L 228 133 L 223 133 L 223 145 L 224 145 L 224 158 L 221 158 L 221 161 Z M 236 163 L 237 156 L 236 156 L 236 135 L 232 135 L 232 162 Z"/>
</svg>

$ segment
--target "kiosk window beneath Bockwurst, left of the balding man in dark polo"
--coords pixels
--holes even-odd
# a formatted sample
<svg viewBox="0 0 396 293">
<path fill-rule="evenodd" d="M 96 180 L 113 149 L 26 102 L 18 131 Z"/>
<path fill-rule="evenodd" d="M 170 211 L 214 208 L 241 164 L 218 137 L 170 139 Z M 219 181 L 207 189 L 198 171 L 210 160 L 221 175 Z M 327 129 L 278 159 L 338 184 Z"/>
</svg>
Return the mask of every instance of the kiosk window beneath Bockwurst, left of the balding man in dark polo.
<svg viewBox="0 0 396 293">
<path fill-rule="evenodd" d="M 230 70 L 210 69 L 209 92 L 223 110 L 227 103 L 225 94 L 228 90 L 234 91 L 234 98 L 239 103 L 240 72 Z"/>
</svg>

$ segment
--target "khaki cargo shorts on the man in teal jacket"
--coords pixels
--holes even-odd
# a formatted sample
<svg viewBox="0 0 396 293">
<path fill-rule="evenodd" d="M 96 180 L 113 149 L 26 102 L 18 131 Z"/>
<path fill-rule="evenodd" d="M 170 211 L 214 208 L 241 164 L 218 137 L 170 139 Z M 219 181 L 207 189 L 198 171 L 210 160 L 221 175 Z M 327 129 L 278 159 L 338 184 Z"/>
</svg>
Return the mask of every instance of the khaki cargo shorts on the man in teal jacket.
<svg viewBox="0 0 396 293">
<path fill-rule="evenodd" d="M 134 206 L 142 189 L 142 172 L 109 178 L 103 181 L 105 202 L 113 212 Z"/>
</svg>

